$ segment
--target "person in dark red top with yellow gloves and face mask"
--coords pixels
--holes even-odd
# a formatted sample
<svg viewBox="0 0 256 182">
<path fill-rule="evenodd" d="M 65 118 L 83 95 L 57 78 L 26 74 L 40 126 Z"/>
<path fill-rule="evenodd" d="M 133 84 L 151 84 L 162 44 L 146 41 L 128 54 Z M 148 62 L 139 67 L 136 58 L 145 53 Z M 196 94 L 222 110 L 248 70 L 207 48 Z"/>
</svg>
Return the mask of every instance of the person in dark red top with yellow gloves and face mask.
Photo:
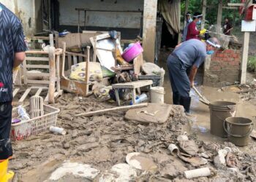
<svg viewBox="0 0 256 182">
<path fill-rule="evenodd" d="M 206 32 L 206 29 L 203 29 L 202 31 L 197 30 L 197 25 L 201 24 L 203 15 L 201 15 L 199 12 L 195 12 L 193 16 L 193 21 L 192 23 L 189 23 L 188 28 L 187 28 L 187 39 L 199 39 L 199 35 L 203 34 Z"/>
</svg>

